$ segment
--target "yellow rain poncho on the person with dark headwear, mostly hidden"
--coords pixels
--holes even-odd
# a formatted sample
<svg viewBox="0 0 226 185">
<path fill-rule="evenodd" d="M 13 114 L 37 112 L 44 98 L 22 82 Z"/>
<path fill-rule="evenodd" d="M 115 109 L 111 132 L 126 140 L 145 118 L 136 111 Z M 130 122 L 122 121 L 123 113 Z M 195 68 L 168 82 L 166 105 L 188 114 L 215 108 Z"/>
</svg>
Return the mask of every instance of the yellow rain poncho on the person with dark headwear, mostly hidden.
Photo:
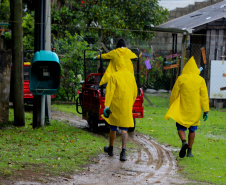
<svg viewBox="0 0 226 185">
<path fill-rule="evenodd" d="M 126 68 L 132 74 L 134 74 L 133 63 L 131 59 L 137 58 L 137 56 L 135 53 L 133 53 L 130 49 L 126 47 L 117 48 L 108 53 L 102 54 L 101 58 L 110 59 L 110 63 L 107 67 L 106 72 L 104 73 L 104 76 L 100 81 L 100 84 L 99 84 L 100 86 L 108 82 L 111 76 L 111 73 L 114 73 L 116 71 L 116 67 L 115 67 L 116 62 L 120 62 L 120 60 L 124 60 L 126 64 Z M 100 55 L 97 56 L 97 59 L 100 59 Z"/>
</svg>

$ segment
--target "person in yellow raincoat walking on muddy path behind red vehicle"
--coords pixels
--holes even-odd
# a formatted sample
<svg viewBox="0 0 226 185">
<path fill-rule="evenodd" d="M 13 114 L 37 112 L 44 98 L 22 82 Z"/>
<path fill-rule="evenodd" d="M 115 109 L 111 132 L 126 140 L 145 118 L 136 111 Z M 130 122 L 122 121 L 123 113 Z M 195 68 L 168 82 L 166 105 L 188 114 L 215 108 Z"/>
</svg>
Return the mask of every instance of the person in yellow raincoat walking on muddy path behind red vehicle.
<svg viewBox="0 0 226 185">
<path fill-rule="evenodd" d="M 119 127 L 122 134 L 120 160 L 126 161 L 127 131 L 129 127 L 134 127 L 132 110 L 138 89 L 134 74 L 127 69 L 126 63 L 122 58 L 115 60 L 114 67 L 115 72 L 111 74 L 107 83 L 104 116 L 102 115 L 110 125 L 109 146 L 105 146 L 104 151 L 109 156 L 113 156 L 116 130 Z M 107 112 L 109 110 L 111 114 L 108 117 Z"/>
</svg>

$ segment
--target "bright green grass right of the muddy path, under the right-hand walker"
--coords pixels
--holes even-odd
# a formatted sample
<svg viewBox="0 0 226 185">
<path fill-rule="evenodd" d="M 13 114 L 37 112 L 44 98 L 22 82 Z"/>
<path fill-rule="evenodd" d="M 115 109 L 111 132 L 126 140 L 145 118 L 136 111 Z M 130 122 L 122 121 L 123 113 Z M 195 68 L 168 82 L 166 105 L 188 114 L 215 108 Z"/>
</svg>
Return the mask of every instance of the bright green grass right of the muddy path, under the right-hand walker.
<svg viewBox="0 0 226 185">
<path fill-rule="evenodd" d="M 136 130 L 150 135 L 161 144 L 180 149 L 181 141 L 177 134 L 175 121 L 166 121 L 164 115 L 169 107 L 169 98 L 148 95 L 154 106 L 144 101 L 144 118 L 137 119 Z M 194 158 L 179 158 L 180 173 L 195 181 L 226 184 L 226 109 L 211 108 L 207 121 L 201 121 L 196 131 L 193 145 Z M 188 134 L 188 131 L 186 132 Z M 175 155 L 178 156 L 178 152 Z"/>
</svg>

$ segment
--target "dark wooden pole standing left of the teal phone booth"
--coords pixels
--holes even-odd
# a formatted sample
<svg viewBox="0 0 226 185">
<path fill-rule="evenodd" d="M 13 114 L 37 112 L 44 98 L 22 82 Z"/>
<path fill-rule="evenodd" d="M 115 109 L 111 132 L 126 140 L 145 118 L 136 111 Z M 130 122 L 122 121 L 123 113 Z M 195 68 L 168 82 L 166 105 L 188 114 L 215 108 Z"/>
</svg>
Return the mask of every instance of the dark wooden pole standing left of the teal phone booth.
<svg viewBox="0 0 226 185">
<path fill-rule="evenodd" d="M 14 123 L 16 126 L 24 126 L 25 117 L 22 0 L 10 0 L 10 10 L 12 21 L 12 62 L 14 64 Z"/>
</svg>

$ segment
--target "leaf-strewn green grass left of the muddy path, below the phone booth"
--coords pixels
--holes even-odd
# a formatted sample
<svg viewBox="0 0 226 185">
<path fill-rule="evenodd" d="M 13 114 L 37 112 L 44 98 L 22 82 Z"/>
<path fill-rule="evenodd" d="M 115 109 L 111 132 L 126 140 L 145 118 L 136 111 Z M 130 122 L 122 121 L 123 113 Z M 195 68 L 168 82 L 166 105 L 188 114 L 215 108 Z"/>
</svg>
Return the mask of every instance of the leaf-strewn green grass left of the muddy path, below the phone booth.
<svg viewBox="0 0 226 185">
<path fill-rule="evenodd" d="M 8 125 L 0 130 L 0 174 L 13 176 L 33 170 L 49 175 L 66 175 L 81 169 L 91 158 L 103 152 L 105 137 L 59 121 L 32 128 L 32 114 L 26 113 L 26 126 Z M 13 121 L 13 110 L 10 110 Z"/>
</svg>

